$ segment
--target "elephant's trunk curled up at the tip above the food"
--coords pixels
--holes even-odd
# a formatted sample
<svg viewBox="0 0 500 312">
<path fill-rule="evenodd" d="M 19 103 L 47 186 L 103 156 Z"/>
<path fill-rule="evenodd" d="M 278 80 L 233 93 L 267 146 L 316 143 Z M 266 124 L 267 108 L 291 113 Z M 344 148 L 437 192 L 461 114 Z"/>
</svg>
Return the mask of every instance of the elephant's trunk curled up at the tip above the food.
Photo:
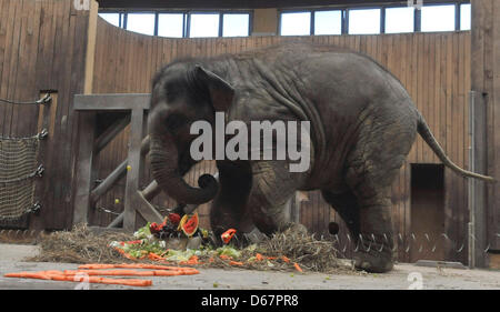
<svg viewBox="0 0 500 312">
<path fill-rule="evenodd" d="M 150 160 L 154 180 L 178 203 L 201 204 L 216 197 L 218 183 L 210 174 L 198 179 L 200 188 L 186 183 L 179 169 L 178 149 L 168 134 L 151 134 Z"/>
</svg>

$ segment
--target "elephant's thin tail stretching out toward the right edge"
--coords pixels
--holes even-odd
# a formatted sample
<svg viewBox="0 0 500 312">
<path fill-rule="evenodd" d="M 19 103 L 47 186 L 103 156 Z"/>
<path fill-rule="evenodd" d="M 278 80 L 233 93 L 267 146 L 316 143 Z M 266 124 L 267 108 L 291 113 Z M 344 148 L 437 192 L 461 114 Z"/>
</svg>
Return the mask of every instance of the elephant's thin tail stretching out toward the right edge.
<svg viewBox="0 0 500 312">
<path fill-rule="evenodd" d="M 487 182 L 497 182 L 491 177 L 482 175 L 482 174 L 474 173 L 474 172 L 471 172 L 471 171 L 467 171 L 467 170 L 461 169 L 457 164 L 454 164 L 448 158 L 447 153 L 441 148 L 441 145 L 438 143 L 438 141 L 436 140 L 434 135 L 430 131 L 429 125 L 427 124 L 426 120 L 423 119 L 423 117 L 420 113 L 419 113 L 419 122 L 418 122 L 417 131 L 422 137 L 422 139 L 429 144 L 429 147 L 432 149 L 432 151 L 434 151 L 434 153 L 438 155 L 438 158 L 442 161 L 442 163 L 446 167 L 450 168 L 451 170 L 453 170 L 454 172 L 457 172 L 457 173 L 459 173 L 459 174 L 461 174 L 463 177 L 480 179 L 480 180 L 483 180 L 483 181 L 487 181 Z"/>
</svg>

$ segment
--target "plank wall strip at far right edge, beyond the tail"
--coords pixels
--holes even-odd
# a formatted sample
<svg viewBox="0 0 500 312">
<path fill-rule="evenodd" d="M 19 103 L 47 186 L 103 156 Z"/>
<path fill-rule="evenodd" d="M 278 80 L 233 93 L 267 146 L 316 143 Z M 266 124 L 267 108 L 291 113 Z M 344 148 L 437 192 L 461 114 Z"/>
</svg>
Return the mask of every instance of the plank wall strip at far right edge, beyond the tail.
<svg viewBox="0 0 500 312">
<path fill-rule="evenodd" d="M 480 133 L 477 165 L 482 172 L 500 179 L 500 2 L 472 0 L 473 52 L 472 90 L 481 97 L 478 113 L 486 119 Z M 481 140 L 482 139 L 482 140 Z M 486 188 L 486 201 L 481 218 L 486 221 L 483 245 L 500 251 L 500 184 Z M 482 194 L 481 194 L 482 195 Z M 482 214 L 482 215 L 481 215 Z M 491 255 L 493 256 L 493 255 Z M 498 255 L 496 255 L 498 259 Z M 491 259 L 491 258 L 490 258 Z M 497 260 L 498 261 L 498 260 Z"/>
</svg>

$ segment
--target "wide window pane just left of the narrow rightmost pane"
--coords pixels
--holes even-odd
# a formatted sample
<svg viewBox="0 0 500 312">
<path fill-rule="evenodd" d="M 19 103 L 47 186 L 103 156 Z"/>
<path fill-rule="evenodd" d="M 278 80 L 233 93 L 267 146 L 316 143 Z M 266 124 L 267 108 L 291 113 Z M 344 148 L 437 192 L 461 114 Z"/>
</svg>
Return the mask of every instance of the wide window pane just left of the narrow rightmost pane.
<svg viewBox="0 0 500 312">
<path fill-rule="evenodd" d="M 422 31 L 453 31 L 454 4 L 422 7 Z"/>
</svg>

